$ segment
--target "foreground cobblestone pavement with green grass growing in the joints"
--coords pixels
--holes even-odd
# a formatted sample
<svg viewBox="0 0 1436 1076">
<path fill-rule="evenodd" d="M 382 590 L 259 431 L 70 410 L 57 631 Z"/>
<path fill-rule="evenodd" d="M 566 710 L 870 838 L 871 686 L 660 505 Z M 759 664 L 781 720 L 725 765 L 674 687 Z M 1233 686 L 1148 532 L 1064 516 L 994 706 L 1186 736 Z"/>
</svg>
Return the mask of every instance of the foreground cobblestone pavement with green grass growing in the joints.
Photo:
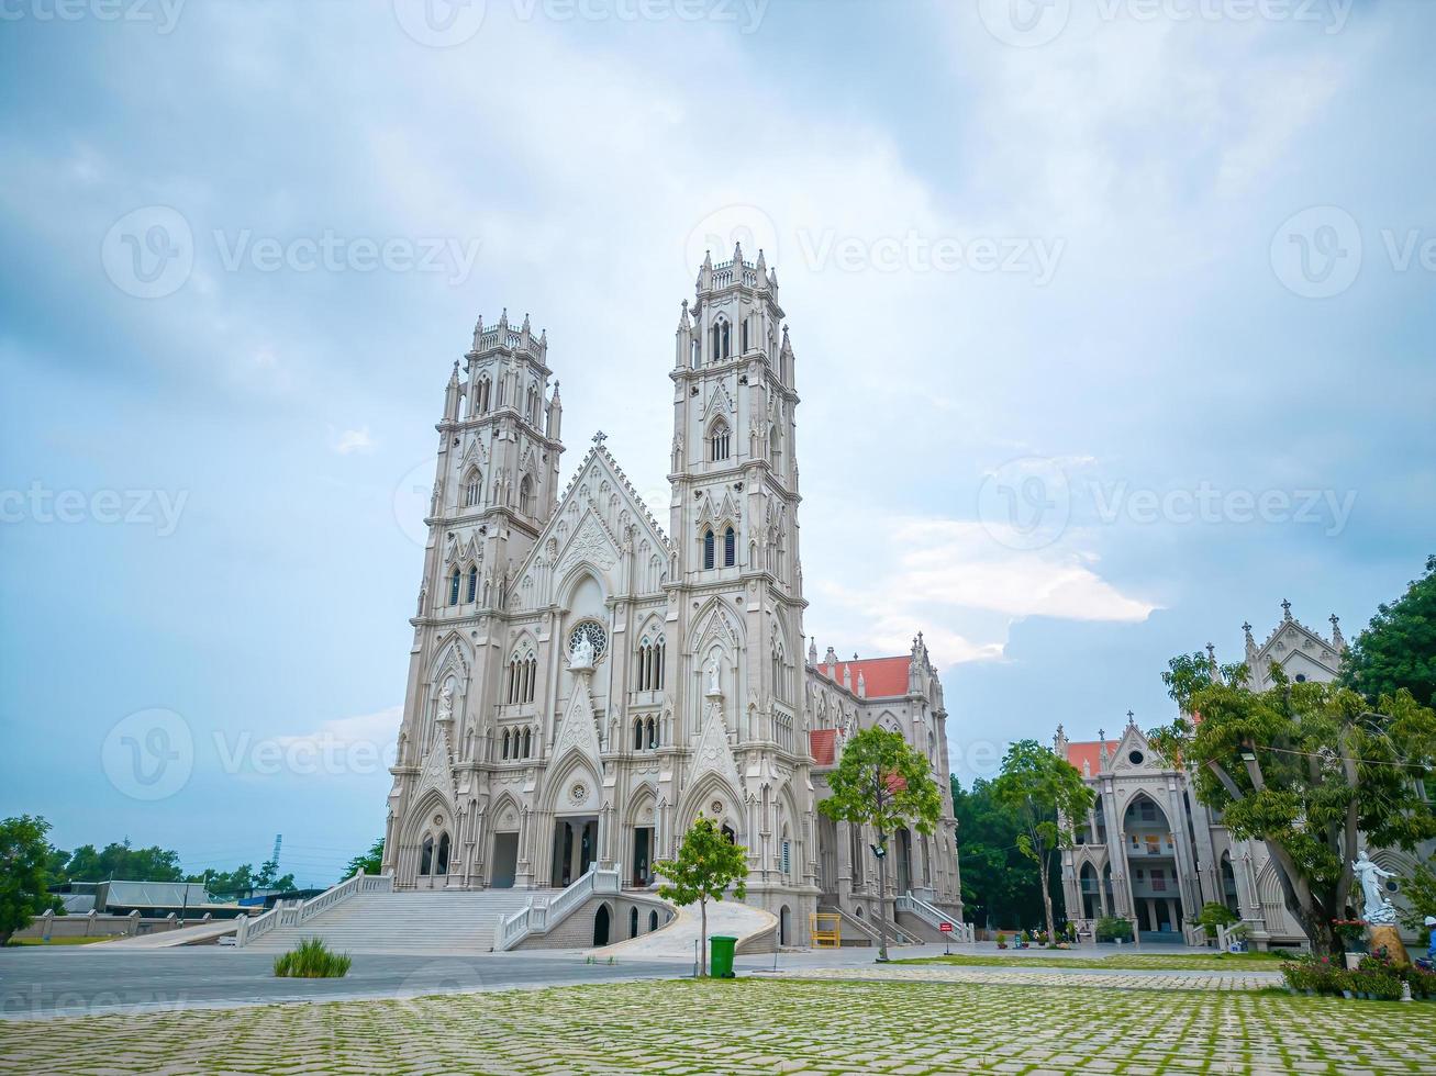
<svg viewBox="0 0 1436 1076">
<path fill-rule="evenodd" d="M 1432 1072 L 1436 1007 L 1084 986 L 645 981 L 0 1024 L 16 1073 Z"/>
</svg>

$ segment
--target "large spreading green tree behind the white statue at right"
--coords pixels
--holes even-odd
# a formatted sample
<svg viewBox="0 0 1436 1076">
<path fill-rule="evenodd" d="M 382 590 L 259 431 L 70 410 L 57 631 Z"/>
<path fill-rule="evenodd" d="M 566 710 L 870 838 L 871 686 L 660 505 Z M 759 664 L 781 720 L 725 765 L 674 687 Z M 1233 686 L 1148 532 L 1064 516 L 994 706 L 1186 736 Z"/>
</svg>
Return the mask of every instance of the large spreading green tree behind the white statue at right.
<svg viewBox="0 0 1436 1076">
<path fill-rule="evenodd" d="M 1330 955 L 1366 842 L 1412 851 L 1436 836 L 1417 786 L 1436 765 L 1436 713 L 1404 689 L 1373 707 L 1338 684 L 1291 683 L 1275 663 L 1271 677 L 1252 692 L 1245 666 L 1172 659 L 1162 679 L 1180 716 L 1149 739 L 1190 768 L 1198 799 L 1223 812 L 1234 836 L 1265 842 L 1287 910 L 1313 951 Z"/>
</svg>

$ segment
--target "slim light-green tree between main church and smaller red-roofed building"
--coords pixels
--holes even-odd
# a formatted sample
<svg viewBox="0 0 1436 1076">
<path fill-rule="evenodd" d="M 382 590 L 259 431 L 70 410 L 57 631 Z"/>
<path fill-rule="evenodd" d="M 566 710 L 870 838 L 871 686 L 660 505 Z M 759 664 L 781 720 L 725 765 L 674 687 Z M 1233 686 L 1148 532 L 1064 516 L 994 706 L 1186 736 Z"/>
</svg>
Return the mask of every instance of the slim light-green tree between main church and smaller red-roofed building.
<svg viewBox="0 0 1436 1076">
<path fill-rule="evenodd" d="M 1091 806 L 1093 792 L 1067 759 L 1037 740 L 1018 740 L 1002 758 L 994 795 L 1017 816 L 1017 846 L 1037 864 L 1043 892 L 1047 937 L 1057 937 L 1053 915 L 1051 868 L 1058 848 L 1071 844 L 1071 829 L 1061 819 L 1081 819 Z M 1070 826 L 1070 822 L 1068 822 Z"/>
</svg>

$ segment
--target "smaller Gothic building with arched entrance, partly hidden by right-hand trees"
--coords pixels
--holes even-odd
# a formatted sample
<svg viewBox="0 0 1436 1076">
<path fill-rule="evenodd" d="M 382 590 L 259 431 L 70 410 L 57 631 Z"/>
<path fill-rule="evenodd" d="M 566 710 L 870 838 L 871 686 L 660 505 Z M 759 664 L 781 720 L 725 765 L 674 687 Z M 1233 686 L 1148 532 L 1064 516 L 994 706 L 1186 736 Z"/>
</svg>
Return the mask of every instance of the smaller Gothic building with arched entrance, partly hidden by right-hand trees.
<svg viewBox="0 0 1436 1076">
<path fill-rule="evenodd" d="M 1259 643 L 1244 624 L 1248 686 L 1272 687 L 1271 666 L 1288 680 L 1331 683 L 1346 640 L 1335 615 L 1323 636 L 1291 615 L 1282 603 L 1277 627 Z M 1216 666 L 1213 647 L 1208 647 Z M 1225 904 L 1251 928 L 1259 948 L 1302 945 L 1305 934 L 1287 911 L 1277 864 L 1261 841 L 1231 835 L 1222 813 L 1200 803 L 1185 769 L 1167 766 L 1137 729 L 1133 714 L 1122 736 L 1068 740 L 1061 726 L 1054 749 L 1081 770 L 1097 793 L 1087 818 L 1068 819 L 1074 846 L 1063 851 L 1067 917 L 1083 931 L 1101 917 L 1132 920 L 1143 940 L 1193 941 L 1186 927 L 1203 904 Z M 1371 849 L 1377 865 L 1409 877 L 1414 861 L 1399 849 Z M 1393 897 L 1396 889 L 1393 887 Z"/>
</svg>

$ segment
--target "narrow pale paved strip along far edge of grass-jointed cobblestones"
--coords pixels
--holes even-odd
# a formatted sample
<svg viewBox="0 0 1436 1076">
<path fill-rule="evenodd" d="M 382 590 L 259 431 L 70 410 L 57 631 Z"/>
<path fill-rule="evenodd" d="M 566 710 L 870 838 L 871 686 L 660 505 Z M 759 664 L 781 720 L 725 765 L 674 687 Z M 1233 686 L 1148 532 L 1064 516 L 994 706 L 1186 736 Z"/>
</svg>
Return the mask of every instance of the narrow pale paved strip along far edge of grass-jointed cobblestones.
<svg viewBox="0 0 1436 1076">
<path fill-rule="evenodd" d="M 797 978 L 852 978 L 898 983 L 998 983 L 1011 986 L 1087 986 L 1109 990 L 1262 990 L 1281 986 L 1279 971 L 1129 971 L 1122 968 L 1025 968 L 906 964 L 803 968 Z"/>
</svg>

